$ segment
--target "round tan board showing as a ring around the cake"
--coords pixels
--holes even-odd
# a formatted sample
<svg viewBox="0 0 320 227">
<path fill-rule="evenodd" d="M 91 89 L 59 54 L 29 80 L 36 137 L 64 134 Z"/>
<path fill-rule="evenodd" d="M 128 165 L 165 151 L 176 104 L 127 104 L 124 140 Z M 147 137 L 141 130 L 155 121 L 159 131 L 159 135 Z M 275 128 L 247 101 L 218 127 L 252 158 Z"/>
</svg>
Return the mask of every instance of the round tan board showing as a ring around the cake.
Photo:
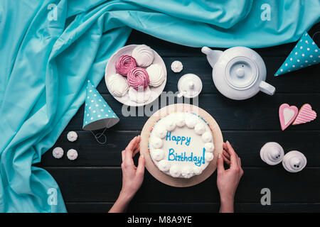
<svg viewBox="0 0 320 227">
<path fill-rule="evenodd" d="M 200 115 L 204 120 L 209 123 L 211 130 L 213 131 L 213 144 L 215 145 L 215 150 L 213 151 L 214 158 L 209 163 L 208 167 L 201 173 L 201 175 L 193 176 L 189 179 L 184 178 L 174 178 L 169 175 L 166 175 L 164 172 L 161 172 L 154 162 L 151 160 L 148 148 L 149 142 L 149 133 L 151 131 L 152 126 L 154 123 L 159 120 L 159 118 L 166 116 L 168 114 L 177 112 L 177 111 L 186 111 L 192 112 L 195 114 Z M 220 131 L 218 123 L 215 119 L 210 116 L 206 111 L 199 108 L 198 106 L 193 106 L 191 104 L 172 104 L 169 106 L 165 106 L 159 111 L 156 111 L 144 124 L 144 128 L 142 128 L 141 133 L 141 141 L 140 141 L 140 153 L 144 154 L 144 158 L 146 160 L 146 170 L 150 172 L 154 178 L 158 179 L 159 182 L 167 184 L 172 187 L 191 187 L 193 185 L 199 184 L 203 182 L 205 179 L 210 177 L 210 175 L 215 172 L 217 168 L 217 158 L 218 154 L 222 154 L 223 152 L 223 135 Z"/>
</svg>

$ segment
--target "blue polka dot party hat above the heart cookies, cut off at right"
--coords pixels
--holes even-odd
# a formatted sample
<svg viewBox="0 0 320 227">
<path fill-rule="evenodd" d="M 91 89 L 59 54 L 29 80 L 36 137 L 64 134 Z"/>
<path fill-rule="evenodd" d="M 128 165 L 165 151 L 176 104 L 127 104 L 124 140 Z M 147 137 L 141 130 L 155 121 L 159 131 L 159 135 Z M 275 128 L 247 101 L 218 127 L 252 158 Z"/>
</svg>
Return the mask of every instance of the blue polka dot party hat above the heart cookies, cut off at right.
<svg viewBox="0 0 320 227">
<path fill-rule="evenodd" d="M 319 62 L 319 47 L 314 43 L 314 40 L 312 40 L 308 33 L 304 33 L 282 66 L 274 74 L 274 77 L 295 70 L 300 70 L 304 67 L 316 65 Z"/>
</svg>

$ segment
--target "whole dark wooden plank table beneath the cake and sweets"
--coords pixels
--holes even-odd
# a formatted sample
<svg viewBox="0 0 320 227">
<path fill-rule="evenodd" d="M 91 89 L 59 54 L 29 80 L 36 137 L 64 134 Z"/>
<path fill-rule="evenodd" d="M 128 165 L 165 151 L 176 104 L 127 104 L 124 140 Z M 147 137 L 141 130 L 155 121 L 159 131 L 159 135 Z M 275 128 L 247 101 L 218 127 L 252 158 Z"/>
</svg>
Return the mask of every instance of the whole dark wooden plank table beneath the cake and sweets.
<svg viewBox="0 0 320 227">
<path fill-rule="evenodd" d="M 320 31 L 317 25 L 311 33 Z M 319 37 L 319 36 L 318 36 Z M 319 39 L 319 38 L 318 38 Z M 200 48 L 188 48 L 133 31 L 127 44 L 146 44 L 163 57 L 168 71 L 164 91 L 176 92 L 177 82 L 186 73 L 198 74 L 203 81 L 199 106 L 211 114 L 241 157 L 245 175 L 235 196 L 238 212 L 320 211 L 320 118 L 312 123 L 290 126 L 281 131 L 278 109 L 283 103 L 302 106 L 309 103 L 320 114 L 319 65 L 274 77 L 294 43 L 273 48 L 257 49 L 267 65 L 267 82 L 277 88 L 274 96 L 260 92 L 251 99 L 234 101 L 221 95 L 213 84 L 211 67 Z M 183 71 L 174 74 L 171 62 L 180 60 Z M 79 157 L 71 162 L 66 155 L 53 158 L 52 150 L 43 155 L 39 166 L 44 167 L 58 182 L 69 212 L 107 212 L 117 199 L 122 185 L 121 154 L 129 140 L 139 135 L 146 116 L 124 117 L 122 104 L 105 86 L 98 91 L 119 116 L 116 126 L 107 130 L 107 145 L 100 145 L 90 132 L 82 131 L 83 106 L 68 124 L 53 146 L 78 150 Z M 78 140 L 70 143 L 68 131 L 76 131 Z M 308 160 L 302 172 L 289 173 L 282 167 L 266 165 L 260 159 L 260 148 L 267 142 L 280 143 L 285 152 L 299 150 Z M 137 161 L 137 160 L 136 160 Z M 271 190 L 271 206 L 262 206 L 261 189 Z M 142 188 L 129 205 L 132 212 L 217 212 L 219 194 L 216 173 L 194 187 L 174 188 L 158 182 L 146 171 Z"/>
</svg>

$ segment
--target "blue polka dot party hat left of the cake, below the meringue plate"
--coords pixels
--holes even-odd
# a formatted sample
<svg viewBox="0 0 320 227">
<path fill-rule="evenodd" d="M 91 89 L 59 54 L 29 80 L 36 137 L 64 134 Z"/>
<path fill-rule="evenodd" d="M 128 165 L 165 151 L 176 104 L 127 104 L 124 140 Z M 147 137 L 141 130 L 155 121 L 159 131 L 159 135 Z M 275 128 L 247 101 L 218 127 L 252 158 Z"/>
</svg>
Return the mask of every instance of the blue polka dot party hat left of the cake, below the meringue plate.
<svg viewBox="0 0 320 227">
<path fill-rule="evenodd" d="M 119 122 L 119 118 L 107 104 L 101 94 L 88 80 L 87 95 L 85 96 L 85 114 L 83 130 L 94 131 L 101 128 L 110 128 Z"/>
</svg>

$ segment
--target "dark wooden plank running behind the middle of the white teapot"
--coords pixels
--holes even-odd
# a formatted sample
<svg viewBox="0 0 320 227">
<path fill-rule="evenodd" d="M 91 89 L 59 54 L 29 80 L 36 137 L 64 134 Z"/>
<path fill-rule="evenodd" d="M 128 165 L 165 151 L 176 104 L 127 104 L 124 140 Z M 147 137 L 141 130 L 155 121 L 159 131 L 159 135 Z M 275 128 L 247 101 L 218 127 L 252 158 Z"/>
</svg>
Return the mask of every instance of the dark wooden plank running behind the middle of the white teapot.
<svg viewBox="0 0 320 227">
<path fill-rule="evenodd" d="M 200 49 L 199 49 L 200 51 Z M 277 50 L 270 50 L 270 52 L 277 52 Z M 203 82 L 202 94 L 206 93 L 218 93 L 218 89 L 215 88 L 212 79 L 212 68 L 208 64 L 206 57 L 163 57 L 167 70 L 167 82 L 164 88 L 165 92 L 177 92 L 178 91 L 178 79 L 183 74 L 193 73 L 197 74 Z M 320 65 L 314 65 L 306 67 L 302 70 L 297 70 L 286 75 L 274 77 L 274 73 L 277 72 L 282 62 L 286 57 L 265 57 L 265 64 L 267 67 L 267 82 L 272 84 L 279 93 L 319 93 L 319 70 Z M 174 73 L 171 71 L 171 63 L 174 60 L 179 60 L 183 64 L 183 71 Z M 303 82 L 303 86 L 302 86 Z M 101 94 L 109 93 L 105 78 L 102 79 L 97 87 L 97 90 Z"/>
</svg>

